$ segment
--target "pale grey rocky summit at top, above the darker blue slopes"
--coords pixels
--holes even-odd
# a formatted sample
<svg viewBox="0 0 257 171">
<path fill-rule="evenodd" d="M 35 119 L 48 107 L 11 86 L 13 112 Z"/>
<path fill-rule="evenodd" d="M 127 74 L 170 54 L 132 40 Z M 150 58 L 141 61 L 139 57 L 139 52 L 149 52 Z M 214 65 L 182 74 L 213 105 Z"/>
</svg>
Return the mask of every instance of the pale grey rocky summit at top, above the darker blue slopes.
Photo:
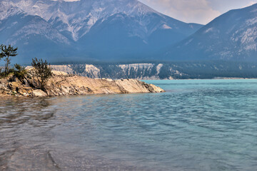
<svg viewBox="0 0 257 171">
<path fill-rule="evenodd" d="M 81 1 L 49 1 L 49 0 L 4 0 L 11 6 L 17 6 L 27 14 L 41 16 L 41 18 L 55 24 L 63 23 L 59 31 L 68 31 L 74 41 L 89 32 L 96 21 L 104 21 L 114 14 L 128 16 L 144 16 L 156 13 L 148 6 L 136 0 L 81 0 Z M 82 31 L 83 30 L 83 31 Z M 82 31 L 82 33 L 81 33 Z"/>
</svg>

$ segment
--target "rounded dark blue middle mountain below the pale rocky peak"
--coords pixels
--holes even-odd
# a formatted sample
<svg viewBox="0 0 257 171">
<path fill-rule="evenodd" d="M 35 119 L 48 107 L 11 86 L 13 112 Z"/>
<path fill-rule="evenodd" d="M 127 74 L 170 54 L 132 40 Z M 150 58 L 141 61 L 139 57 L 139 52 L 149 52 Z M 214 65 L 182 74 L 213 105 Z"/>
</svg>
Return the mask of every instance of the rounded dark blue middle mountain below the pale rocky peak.
<svg viewBox="0 0 257 171">
<path fill-rule="evenodd" d="M 158 49 L 181 41 L 193 31 L 191 29 L 188 32 L 188 24 L 167 16 L 145 14 L 142 17 L 135 19 L 134 16 L 123 13 L 109 16 L 104 21 L 96 22 L 91 31 L 79 39 L 79 45 L 89 47 L 84 53 L 95 54 L 105 61 L 138 58 L 144 60 Z M 141 26 L 141 22 L 146 22 L 146 26 Z M 191 26 L 198 27 L 194 24 L 189 27 Z"/>
</svg>

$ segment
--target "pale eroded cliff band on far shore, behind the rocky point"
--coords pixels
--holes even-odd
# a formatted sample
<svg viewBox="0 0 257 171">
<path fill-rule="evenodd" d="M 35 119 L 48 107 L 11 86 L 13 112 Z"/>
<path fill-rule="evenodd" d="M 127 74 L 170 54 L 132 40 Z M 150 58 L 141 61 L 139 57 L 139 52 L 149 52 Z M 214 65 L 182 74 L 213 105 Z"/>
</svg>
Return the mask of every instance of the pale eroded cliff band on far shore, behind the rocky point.
<svg viewBox="0 0 257 171">
<path fill-rule="evenodd" d="M 89 78 L 159 80 L 185 76 L 173 66 L 167 66 L 165 63 L 72 64 L 52 65 L 51 68 L 54 71 L 63 71 Z"/>
</svg>

